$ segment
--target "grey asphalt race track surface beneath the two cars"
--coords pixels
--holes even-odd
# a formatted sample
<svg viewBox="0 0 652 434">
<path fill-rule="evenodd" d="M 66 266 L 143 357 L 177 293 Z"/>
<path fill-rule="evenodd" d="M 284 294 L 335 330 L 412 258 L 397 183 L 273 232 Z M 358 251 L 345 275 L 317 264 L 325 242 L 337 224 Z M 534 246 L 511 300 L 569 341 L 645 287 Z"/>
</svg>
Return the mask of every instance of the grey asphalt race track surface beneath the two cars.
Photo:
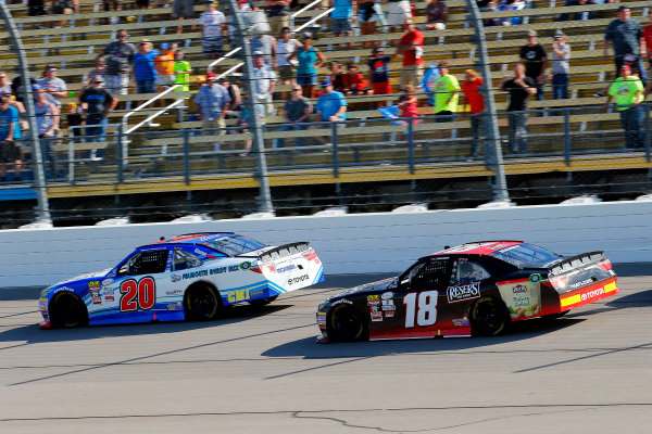
<svg viewBox="0 0 652 434">
<path fill-rule="evenodd" d="M 651 271 L 506 336 L 329 345 L 317 303 L 376 277 L 210 323 L 51 331 L 35 290 L 0 290 L 0 433 L 648 434 Z"/>
</svg>

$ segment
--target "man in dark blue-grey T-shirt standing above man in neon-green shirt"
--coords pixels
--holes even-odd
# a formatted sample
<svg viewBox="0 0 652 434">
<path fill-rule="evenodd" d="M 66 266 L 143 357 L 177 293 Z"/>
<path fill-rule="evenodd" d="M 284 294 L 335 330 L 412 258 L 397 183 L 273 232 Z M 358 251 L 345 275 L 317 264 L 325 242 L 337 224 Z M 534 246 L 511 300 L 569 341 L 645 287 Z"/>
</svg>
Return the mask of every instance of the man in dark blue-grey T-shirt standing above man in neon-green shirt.
<svg viewBox="0 0 652 434">
<path fill-rule="evenodd" d="M 636 20 L 631 18 L 631 10 L 626 5 L 619 7 L 618 17 L 612 21 L 606 27 L 602 53 L 606 60 L 609 41 L 611 40 L 614 46 L 616 74 L 619 74 L 625 63 L 632 64 L 639 62 L 639 41 L 641 37 L 641 26 Z"/>
</svg>

